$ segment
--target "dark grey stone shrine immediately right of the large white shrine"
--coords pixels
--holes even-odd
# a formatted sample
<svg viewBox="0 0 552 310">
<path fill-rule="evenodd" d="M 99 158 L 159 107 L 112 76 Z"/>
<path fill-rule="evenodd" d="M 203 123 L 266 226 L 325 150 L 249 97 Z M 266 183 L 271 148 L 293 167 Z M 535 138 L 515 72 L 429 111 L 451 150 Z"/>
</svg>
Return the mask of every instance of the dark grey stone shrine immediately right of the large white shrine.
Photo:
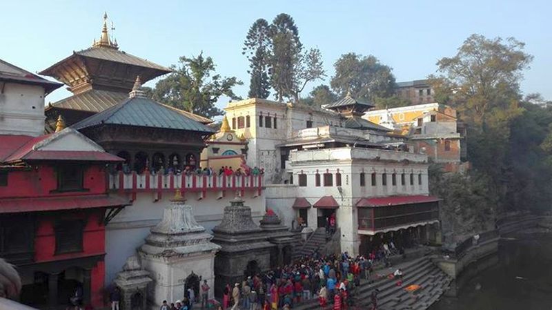
<svg viewBox="0 0 552 310">
<path fill-rule="evenodd" d="M 213 229 L 213 242 L 221 249 L 215 257 L 215 295 L 222 296 L 224 286 L 241 283 L 244 277 L 270 269 L 266 232 L 251 218 L 251 209 L 236 197 L 224 208 L 222 221 Z"/>
</svg>

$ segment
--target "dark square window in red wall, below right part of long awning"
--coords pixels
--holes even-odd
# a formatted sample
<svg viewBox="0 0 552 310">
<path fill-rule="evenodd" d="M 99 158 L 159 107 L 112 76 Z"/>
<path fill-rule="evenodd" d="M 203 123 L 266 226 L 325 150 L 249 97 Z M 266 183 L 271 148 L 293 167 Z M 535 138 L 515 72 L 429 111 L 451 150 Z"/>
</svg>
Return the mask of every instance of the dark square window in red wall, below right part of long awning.
<svg viewBox="0 0 552 310">
<path fill-rule="evenodd" d="M 63 220 L 56 224 L 56 254 L 81 252 L 84 223 L 81 220 Z"/>
</svg>

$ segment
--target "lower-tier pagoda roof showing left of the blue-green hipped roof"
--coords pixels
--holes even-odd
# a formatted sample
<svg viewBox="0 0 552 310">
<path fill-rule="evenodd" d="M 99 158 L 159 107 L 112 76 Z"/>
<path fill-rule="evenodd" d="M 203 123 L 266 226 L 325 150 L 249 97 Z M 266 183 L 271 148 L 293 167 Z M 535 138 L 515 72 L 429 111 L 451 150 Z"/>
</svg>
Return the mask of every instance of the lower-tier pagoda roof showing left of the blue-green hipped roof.
<svg viewBox="0 0 552 310">
<path fill-rule="evenodd" d="M 52 104 L 55 108 L 66 108 L 70 110 L 81 110 L 89 112 L 101 112 L 115 104 L 128 99 L 128 93 L 113 92 L 108 90 L 87 90 L 84 93 L 61 99 Z M 46 110 L 48 110 L 47 107 Z"/>
</svg>

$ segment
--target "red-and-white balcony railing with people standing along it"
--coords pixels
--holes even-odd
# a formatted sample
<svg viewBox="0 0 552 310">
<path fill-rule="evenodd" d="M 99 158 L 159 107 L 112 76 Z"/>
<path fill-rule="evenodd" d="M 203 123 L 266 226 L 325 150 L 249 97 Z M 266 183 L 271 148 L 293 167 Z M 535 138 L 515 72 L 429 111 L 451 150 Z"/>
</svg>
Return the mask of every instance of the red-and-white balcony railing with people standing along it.
<svg viewBox="0 0 552 310">
<path fill-rule="evenodd" d="M 110 175 L 109 186 L 111 191 L 132 193 L 133 199 L 139 192 L 157 193 L 159 199 L 161 193 L 174 192 L 177 188 L 182 193 L 199 193 L 198 198 L 201 199 L 208 191 L 219 193 L 219 197 L 224 197 L 226 191 L 240 191 L 242 195 L 245 191 L 254 191 L 254 195 L 260 195 L 264 184 L 263 175 L 151 174 L 148 171 L 137 174 L 135 171 L 119 171 Z"/>
</svg>

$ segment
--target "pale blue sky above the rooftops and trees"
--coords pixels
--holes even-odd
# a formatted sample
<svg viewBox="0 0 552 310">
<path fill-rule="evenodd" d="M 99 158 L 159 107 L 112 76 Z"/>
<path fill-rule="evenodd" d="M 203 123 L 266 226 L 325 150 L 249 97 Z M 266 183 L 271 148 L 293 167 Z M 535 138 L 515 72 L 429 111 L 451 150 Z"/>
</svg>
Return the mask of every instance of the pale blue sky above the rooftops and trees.
<svg viewBox="0 0 552 310">
<path fill-rule="evenodd" d="M 552 99 L 552 1 L 8 1 L 0 0 L 0 59 L 39 72 L 99 38 L 103 12 L 115 25 L 120 49 L 170 66 L 180 56 L 204 52 L 217 72 L 244 82 L 235 93 L 246 97 L 248 61 L 242 55 L 246 33 L 259 18 L 290 14 L 306 48 L 322 52 L 329 84 L 340 55 L 375 55 L 393 68 L 397 81 L 424 79 L 435 63 L 455 55 L 473 33 L 515 37 L 535 58 L 524 72 L 524 94 Z M 7 14 L 6 14 L 7 13 Z M 155 79 L 146 86 L 155 86 Z M 304 91 L 303 95 L 306 95 Z M 65 88 L 46 97 L 68 97 Z M 224 107 L 228 99 L 217 106 Z"/>
</svg>

